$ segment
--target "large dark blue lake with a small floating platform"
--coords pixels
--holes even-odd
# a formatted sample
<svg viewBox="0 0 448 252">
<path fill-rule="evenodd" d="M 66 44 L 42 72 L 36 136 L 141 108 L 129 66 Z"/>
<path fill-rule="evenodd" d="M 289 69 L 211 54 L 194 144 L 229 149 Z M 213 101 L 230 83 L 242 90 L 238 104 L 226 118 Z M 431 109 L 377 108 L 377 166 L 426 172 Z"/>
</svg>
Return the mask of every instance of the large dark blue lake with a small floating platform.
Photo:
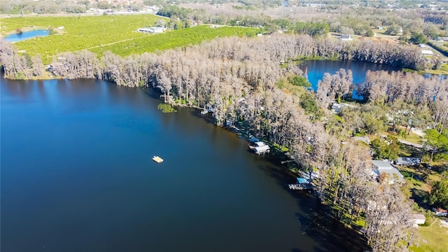
<svg viewBox="0 0 448 252">
<path fill-rule="evenodd" d="M 361 251 L 279 161 L 100 80 L 1 79 L 1 251 Z M 165 161 L 153 162 L 153 155 Z"/>
</svg>

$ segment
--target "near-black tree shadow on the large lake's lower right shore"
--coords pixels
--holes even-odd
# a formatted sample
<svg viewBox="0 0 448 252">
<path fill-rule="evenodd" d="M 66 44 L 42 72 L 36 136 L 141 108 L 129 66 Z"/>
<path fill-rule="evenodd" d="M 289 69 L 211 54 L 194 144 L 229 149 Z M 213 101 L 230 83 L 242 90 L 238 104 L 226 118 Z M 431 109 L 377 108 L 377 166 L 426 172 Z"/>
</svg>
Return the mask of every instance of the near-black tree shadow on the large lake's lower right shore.
<svg viewBox="0 0 448 252">
<path fill-rule="evenodd" d="M 301 213 L 295 213 L 303 234 L 318 242 L 312 251 L 365 251 L 368 250 L 367 241 L 355 230 L 346 228 L 331 214 L 328 206 L 321 204 L 318 197 L 309 191 L 290 190 L 288 184 L 295 182 L 295 175 L 279 164 L 279 160 L 267 155 L 269 162 L 279 167 L 259 167 L 276 180 L 276 183 L 286 190 L 297 202 Z M 302 248 L 292 248 L 291 251 L 308 251 Z"/>
</svg>

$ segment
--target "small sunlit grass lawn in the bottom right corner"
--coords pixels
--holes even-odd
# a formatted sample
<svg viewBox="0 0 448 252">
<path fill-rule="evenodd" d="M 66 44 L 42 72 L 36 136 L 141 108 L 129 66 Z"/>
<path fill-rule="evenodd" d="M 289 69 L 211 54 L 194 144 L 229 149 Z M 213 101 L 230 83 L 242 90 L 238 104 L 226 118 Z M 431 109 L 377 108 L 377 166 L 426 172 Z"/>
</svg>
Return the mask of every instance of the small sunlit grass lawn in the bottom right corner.
<svg viewBox="0 0 448 252">
<path fill-rule="evenodd" d="M 419 237 L 419 246 L 412 246 L 411 251 L 414 252 L 442 252 L 448 248 L 448 228 L 440 226 L 440 221 L 428 227 L 417 228 Z M 426 241 L 426 242 L 425 242 Z"/>
</svg>

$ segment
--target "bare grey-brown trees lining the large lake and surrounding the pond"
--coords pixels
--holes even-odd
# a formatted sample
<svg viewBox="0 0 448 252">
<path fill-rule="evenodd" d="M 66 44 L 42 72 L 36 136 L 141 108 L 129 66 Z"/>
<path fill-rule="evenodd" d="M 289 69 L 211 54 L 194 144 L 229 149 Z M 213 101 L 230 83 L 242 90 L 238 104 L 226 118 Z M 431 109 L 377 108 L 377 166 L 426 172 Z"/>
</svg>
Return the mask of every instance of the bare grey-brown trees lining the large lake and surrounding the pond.
<svg viewBox="0 0 448 252">
<path fill-rule="evenodd" d="M 48 70 L 61 78 L 99 78 L 117 85 L 155 87 L 168 104 L 214 111 L 217 125 L 242 122 L 251 134 L 286 148 L 304 171 L 318 174 L 318 197 L 338 209 L 336 218 L 364 218 L 365 237 L 374 251 L 407 248 L 413 244 L 414 234 L 409 229 L 409 203 L 398 186 L 372 180 L 366 169 L 371 165 L 370 148 L 351 140 L 353 131 L 342 142 L 339 132 L 328 130 L 331 120 L 315 120 L 317 111 L 327 111 L 333 99 L 353 91 L 351 73 L 341 70 L 326 75 L 316 94 L 300 87 L 302 95 L 294 95 L 293 88 L 285 87 L 281 80 L 302 76 L 296 63 L 304 57 L 353 59 L 412 69 L 426 64 L 418 50 L 402 45 L 277 35 L 219 38 L 203 45 L 125 58 L 110 52 L 102 59 L 88 51 L 66 53 L 55 58 Z M 8 77 L 42 74 L 38 56 L 18 55 L 5 41 L 1 41 L 0 61 Z M 440 130 L 447 125 L 446 79 L 372 72 L 357 88 L 372 103 L 400 101 L 421 106 L 433 114 Z M 309 104 L 314 104 L 314 109 Z M 370 121 L 365 120 L 360 128 L 369 129 Z"/>
</svg>

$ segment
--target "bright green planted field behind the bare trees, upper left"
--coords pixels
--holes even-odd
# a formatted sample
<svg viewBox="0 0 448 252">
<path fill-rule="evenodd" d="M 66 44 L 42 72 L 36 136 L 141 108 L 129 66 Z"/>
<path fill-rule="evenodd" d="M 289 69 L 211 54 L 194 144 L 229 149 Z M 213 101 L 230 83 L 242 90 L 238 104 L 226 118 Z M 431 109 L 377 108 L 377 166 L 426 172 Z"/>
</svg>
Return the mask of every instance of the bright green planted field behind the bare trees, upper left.
<svg viewBox="0 0 448 252">
<path fill-rule="evenodd" d="M 162 18 L 155 15 L 3 18 L 1 34 L 6 36 L 14 33 L 16 29 L 56 31 L 54 35 L 15 43 L 18 50 L 23 50 L 29 55 L 40 54 L 44 64 L 48 64 L 54 55 L 61 52 L 87 49 L 101 55 L 106 50 L 111 50 L 118 55 L 126 56 L 201 43 L 217 36 L 255 35 L 258 31 L 255 28 L 244 27 L 199 26 L 167 31 L 163 34 L 137 32 L 138 28 L 151 27 L 160 19 Z"/>
</svg>

